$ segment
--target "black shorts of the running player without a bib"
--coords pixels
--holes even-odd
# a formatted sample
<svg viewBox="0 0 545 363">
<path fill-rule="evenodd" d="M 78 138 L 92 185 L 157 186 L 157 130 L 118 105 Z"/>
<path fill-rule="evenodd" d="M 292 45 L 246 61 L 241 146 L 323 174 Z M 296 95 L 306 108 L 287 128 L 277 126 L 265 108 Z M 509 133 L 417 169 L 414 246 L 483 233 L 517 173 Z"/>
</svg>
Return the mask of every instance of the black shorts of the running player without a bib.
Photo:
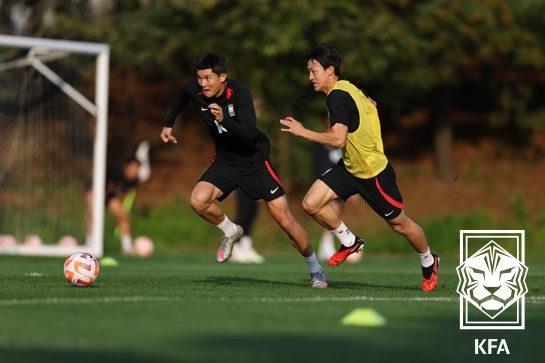
<svg viewBox="0 0 545 363">
<path fill-rule="evenodd" d="M 253 200 L 264 199 L 267 202 L 285 194 L 282 182 L 270 160 L 263 160 L 244 167 L 233 167 L 214 160 L 201 175 L 199 181 L 213 184 L 221 190 L 223 194 L 218 198 L 219 201 L 227 198 L 237 188 L 240 188 Z"/>
</svg>

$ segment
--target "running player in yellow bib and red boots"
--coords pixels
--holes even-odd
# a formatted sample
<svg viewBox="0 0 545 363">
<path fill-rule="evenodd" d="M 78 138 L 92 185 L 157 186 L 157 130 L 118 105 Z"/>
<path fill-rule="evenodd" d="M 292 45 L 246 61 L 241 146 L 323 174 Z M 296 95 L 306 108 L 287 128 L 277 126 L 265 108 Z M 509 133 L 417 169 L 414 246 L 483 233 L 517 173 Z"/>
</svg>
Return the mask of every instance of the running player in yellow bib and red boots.
<svg viewBox="0 0 545 363">
<path fill-rule="evenodd" d="M 314 48 L 307 68 L 314 90 L 327 95 L 330 128 L 325 132 L 308 130 L 293 117 L 281 119 L 280 123 L 284 132 L 342 149 L 338 164 L 322 173 L 303 200 L 305 211 L 341 242 L 340 249 L 329 259 L 329 266 L 340 265 L 365 245 L 330 204 L 359 194 L 395 232 L 409 241 L 420 256 L 422 290 L 434 290 L 439 279 L 439 258 L 431 253 L 422 228 L 404 212 L 394 168 L 384 154 L 376 104 L 352 83 L 340 78 L 341 57 L 332 46 L 321 44 Z"/>
</svg>

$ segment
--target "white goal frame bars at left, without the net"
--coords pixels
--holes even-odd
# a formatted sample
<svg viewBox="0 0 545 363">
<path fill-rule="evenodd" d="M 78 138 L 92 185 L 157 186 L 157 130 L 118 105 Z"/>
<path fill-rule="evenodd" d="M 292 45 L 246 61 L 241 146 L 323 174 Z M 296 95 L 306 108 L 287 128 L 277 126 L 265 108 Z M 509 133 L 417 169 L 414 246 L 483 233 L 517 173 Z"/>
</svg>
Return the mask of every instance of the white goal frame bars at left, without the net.
<svg viewBox="0 0 545 363">
<path fill-rule="evenodd" d="M 60 245 L 26 246 L 23 244 L 0 246 L 0 254 L 65 257 L 75 252 L 87 252 L 95 257 L 101 257 L 104 253 L 104 198 L 106 183 L 110 46 L 105 43 L 0 34 L 0 47 L 28 49 L 28 66 L 34 67 L 50 82 L 58 86 L 68 97 L 94 116 L 96 122 L 93 146 L 93 238 L 91 242 L 75 247 Z M 38 58 L 34 57 L 35 52 L 47 51 L 65 51 L 96 57 L 94 103 L 85 99 L 77 90 L 64 82 Z"/>
</svg>

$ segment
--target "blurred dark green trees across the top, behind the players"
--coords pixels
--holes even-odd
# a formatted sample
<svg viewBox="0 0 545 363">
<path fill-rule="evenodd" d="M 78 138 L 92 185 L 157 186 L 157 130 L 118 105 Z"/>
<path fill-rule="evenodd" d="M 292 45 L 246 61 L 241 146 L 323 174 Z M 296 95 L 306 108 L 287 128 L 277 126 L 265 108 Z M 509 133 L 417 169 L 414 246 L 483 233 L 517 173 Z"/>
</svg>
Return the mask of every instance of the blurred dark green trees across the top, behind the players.
<svg viewBox="0 0 545 363">
<path fill-rule="evenodd" d="M 508 128 L 509 144 L 523 144 L 545 125 L 545 3 L 539 0 L 0 4 L 2 32 L 110 43 L 112 67 L 139 82 L 163 79 L 174 89 L 204 52 L 221 53 L 231 74 L 264 100 L 266 131 L 287 114 L 320 125 L 323 99 L 308 87 L 305 61 L 314 45 L 328 42 L 341 52 L 346 78 L 379 101 L 388 129 L 403 115 L 425 113 L 431 138 L 415 147 L 434 153 L 447 180 L 454 175 L 454 113 L 478 116 L 475 133 Z M 288 150 L 290 140 L 281 143 Z M 290 158 L 281 158 L 286 167 Z"/>
</svg>

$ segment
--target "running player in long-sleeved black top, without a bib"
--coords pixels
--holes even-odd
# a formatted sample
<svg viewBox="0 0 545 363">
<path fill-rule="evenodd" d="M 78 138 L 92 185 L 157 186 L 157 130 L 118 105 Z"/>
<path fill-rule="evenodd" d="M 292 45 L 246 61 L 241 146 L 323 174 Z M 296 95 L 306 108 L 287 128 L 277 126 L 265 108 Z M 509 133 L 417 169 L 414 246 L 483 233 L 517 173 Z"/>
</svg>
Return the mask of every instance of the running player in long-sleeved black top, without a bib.
<svg viewBox="0 0 545 363">
<path fill-rule="evenodd" d="M 270 142 L 256 126 L 253 98 L 239 80 L 227 77 L 223 57 L 206 54 L 195 66 L 196 78 L 185 85 L 168 113 L 161 139 L 177 143 L 172 126 L 191 101 L 208 127 L 216 146 L 212 164 L 191 193 L 191 206 L 203 219 L 224 233 L 216 254 L 218 262 L 231 256 L 233 245 L 243 235 L 242 227 L 231 222 L 216 201 L 240 188 L 254 200 L 264 199 L 271 215 L 305 257 L 311 285 L 327 287 L 325 273 L 309 243 L 308 235 L 288 206 L 282 182 L 269 160 Z"/>
</svg>

